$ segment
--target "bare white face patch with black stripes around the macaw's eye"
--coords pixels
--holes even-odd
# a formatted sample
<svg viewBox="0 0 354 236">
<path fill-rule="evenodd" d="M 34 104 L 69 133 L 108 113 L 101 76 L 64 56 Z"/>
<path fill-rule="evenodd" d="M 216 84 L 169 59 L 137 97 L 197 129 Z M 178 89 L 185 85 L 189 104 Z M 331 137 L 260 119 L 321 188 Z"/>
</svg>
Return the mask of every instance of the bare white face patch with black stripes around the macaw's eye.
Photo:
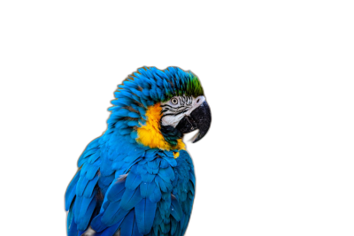
<svg viewBox="0 0 354 236">
<path fill-rule="evenodd" d="M 190 113 L 205 101 L 204 95 L 192 96 L 173 96 L 169 101 L 161 103 L 163 126 L 176 127 L 181 118 L 189 116 Z"/>
</svg>

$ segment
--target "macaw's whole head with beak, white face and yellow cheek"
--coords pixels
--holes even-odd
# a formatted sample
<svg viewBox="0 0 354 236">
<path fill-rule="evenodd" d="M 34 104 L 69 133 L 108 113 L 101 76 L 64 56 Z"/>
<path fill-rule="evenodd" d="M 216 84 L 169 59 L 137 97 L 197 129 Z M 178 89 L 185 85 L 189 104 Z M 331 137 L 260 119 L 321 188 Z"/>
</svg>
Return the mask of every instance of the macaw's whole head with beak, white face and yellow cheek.
<svg viewBox="0 0 354 236">
<path fill-rule="evenodd" d="M 178 67 L 138 69 L 115 92 L 108 129 L 149 148 L 185 149 L 181 138 L 197 131 L 201 141 L 212 125 L 212 111 L 200 80 Z"/>
</svg>

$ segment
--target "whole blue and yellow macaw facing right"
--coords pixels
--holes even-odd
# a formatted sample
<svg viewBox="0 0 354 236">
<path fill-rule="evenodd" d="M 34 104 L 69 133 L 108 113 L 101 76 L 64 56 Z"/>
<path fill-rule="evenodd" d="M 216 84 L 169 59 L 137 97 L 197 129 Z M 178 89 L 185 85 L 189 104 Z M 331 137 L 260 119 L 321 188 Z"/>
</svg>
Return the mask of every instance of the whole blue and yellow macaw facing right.
<svg viewBox="0 0 354 236">
<path fill-rule="evenodd" d="M 196 189 L 183 134 L 212 124 L 200 80 L 178 67 L 144 67 L 124 80 L 104 134 L 89 143 L 65 194 L 67 234 L 186 232 Z"/>
</svg>

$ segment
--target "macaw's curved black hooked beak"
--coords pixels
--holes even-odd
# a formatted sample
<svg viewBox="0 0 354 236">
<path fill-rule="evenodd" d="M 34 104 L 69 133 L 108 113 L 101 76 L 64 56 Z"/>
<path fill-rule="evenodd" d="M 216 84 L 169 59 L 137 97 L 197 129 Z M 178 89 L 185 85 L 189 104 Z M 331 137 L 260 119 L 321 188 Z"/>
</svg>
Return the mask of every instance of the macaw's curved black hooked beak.
<svg viewBox="0 0 354 236">
<path fill-rule="evenodd" d="M 176 126 L 176 129 L 183 134 L 191 133 L 197 129 L 199 132 L 196 133 L 196 137 L 192 141 L 192 143 L 196 143 L 203 140 L 211 126 L 212 110 L 209 104 L 204 101 L 196 110 L 190 113 L 190 116 L 182 118 L 180 123 Z"/>
</svg>

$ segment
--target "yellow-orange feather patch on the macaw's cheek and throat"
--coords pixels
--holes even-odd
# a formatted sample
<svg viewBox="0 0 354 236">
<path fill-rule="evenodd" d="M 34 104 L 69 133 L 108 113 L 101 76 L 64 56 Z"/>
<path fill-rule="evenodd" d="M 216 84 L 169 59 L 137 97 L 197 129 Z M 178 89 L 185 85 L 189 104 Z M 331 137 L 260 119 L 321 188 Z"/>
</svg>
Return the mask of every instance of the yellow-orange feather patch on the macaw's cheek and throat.
<svg viewBox="0 0 354 236">
<path fill-rule="evenodd" d="M 170 143 L 165 141 L 164 136 L 160 132 L 160 119 L 161 114 L 160 103 L 156 103 L 153 106 L 148 107 L 145 116 L 148 118 L 146 125 L 139 127 L 137 129 L 138 138 L 136 141 L 142 143 L 144 146 L 149 146 L 150 148 L 160 148 L 163 150 L 172 150 L 172 149 L 186 149 L 186 144 L 177 140 L 177 145 L 172 146 Z"/>
</svg>

